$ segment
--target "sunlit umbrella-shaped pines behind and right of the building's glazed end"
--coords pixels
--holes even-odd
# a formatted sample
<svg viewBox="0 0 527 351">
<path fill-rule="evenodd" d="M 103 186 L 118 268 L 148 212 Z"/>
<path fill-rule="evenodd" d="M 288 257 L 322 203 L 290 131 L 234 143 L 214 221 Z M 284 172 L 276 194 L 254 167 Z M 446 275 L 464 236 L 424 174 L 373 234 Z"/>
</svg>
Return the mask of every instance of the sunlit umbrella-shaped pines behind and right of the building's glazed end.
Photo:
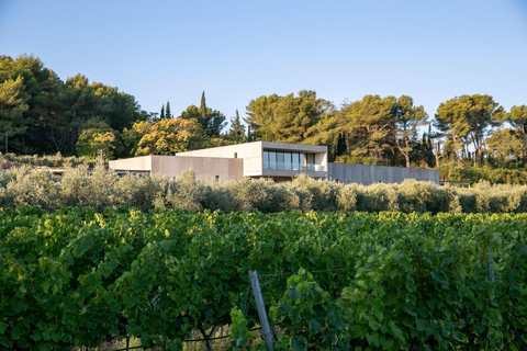
<svg viewBox="0 0 527 351">
<path fill-rule="evenodd" d="M 336 109 L 314 91 L 260 97 L 247 115 L 257 138 L 327 145 L 337 162 L 438 167 L 494 159 L 525 166 L 527 106 L 506 112 L 486 94 L 442 102 L 434 118 L 407 95 L 369 94 Z"/>
</svg>

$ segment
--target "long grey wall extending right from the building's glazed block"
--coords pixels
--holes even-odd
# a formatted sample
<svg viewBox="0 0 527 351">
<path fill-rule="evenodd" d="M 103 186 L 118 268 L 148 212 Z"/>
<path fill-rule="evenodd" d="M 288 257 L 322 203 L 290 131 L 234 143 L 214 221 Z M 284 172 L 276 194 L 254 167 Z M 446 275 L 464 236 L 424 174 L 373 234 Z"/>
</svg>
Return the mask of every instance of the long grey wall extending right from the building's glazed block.
<svg viewBox="0 0 527 351">
<path fill-rule="evenodd" d="M 343 183 L 372 184 L 401 183 L 405 179 L 416 179 L 439 183 L 439 171 L 429 169 L 329 163 L 328 179 Z"/>
</svg>

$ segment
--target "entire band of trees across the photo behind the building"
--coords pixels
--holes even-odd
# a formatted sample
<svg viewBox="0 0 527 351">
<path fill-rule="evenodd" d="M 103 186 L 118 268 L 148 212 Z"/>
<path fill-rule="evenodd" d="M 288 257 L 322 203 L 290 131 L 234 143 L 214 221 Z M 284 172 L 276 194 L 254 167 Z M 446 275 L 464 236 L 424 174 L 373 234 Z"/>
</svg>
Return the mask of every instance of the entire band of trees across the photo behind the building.
<svg viewBox="0 0 527 351">
<path fill-rule="evenodd" d="M 82 75 L 60 80 L 38 57 L 0 56 L 0 151 L 109 158 L 171 155 L 268 140 L 326 145 L 330 161 L 440 168 L 524 169 L 527 106 L 507 111 L 491 95 L 455 97 L 434 116 L 408 95 L 365 95 L 336 106 L 315 91 L 251 100 L 226 128 L 225 115 L 190 105 L 146 112 L 131 94 Z M 453 167 L 453 166 L 452 166 Z"/>
</svg>

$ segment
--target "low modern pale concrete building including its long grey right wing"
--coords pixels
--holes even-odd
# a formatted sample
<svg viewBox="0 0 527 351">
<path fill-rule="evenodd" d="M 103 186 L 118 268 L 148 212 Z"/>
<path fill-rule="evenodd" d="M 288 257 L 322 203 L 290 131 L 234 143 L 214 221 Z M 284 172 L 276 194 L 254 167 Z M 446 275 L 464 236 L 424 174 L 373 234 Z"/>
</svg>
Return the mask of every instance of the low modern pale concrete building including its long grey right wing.
<svg viewBox="0 0 527 351">
<path fill-rule="evenodd" d="M 435 170 L 329 163 L 326 146 L 269 141 L 222 146 L 179 152 L 175 156 L 134 157 L 110 161 L 110 168 L 117 173 L 159 173 L 171 179 L 193 169 L 200 180 L 218 181 L 242 178 L 285 181 L 305 173 L 343 183 L 399 183 L 405 179 L 439 183 L 439 172 Z"/>
</svg>

